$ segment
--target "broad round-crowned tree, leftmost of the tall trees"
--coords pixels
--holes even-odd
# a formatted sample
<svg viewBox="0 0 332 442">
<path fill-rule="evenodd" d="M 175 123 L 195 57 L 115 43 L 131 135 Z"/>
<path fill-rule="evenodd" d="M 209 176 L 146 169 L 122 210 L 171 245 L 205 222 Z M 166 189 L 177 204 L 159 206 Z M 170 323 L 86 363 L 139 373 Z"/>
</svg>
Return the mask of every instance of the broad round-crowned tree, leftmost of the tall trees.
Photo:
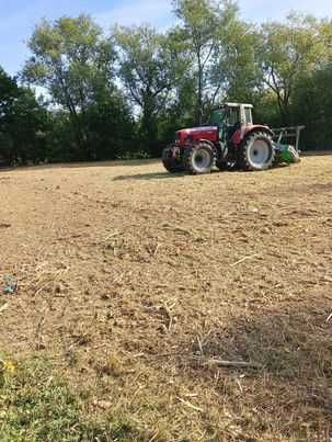
<svg viewBox="0 0 332 442">
<path fill-rule="evenodd" d="M 96 90 L 112 93 L 115 53 L 110 39 L 87 15 L 46 20 L 28 42 L 33 56 L 23 76 L 47 88 L 54 102 L 68 113 L 81 151 L 80 159 L 94 157 L 87 131 L 87 112 L 95 103 Z"/>
</svg>

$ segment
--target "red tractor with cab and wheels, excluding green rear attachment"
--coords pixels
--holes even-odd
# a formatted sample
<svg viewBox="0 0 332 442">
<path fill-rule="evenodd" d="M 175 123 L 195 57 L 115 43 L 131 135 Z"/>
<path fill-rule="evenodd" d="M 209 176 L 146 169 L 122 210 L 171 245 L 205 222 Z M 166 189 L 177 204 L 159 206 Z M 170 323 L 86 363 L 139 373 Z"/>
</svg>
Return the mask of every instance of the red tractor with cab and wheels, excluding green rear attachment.
<svg viewBox="0 0 332 442">
<path fill-rule="evenodd" d="M 182 129 L 162 152 L 169 172 L 266 170 L 275 161 L 273 132 L 252 122 L 252 104 L 225 103 L 213 110 L 208 126 Z"/>
</svg>

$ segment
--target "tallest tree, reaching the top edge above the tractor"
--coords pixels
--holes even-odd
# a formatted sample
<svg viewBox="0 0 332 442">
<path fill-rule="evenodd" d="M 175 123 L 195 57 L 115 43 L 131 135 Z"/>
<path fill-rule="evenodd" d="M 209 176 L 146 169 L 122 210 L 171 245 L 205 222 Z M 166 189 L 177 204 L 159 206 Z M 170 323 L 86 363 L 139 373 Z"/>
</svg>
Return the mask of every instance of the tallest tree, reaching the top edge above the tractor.
<svg viewBox="0 0 332 442">
<path fill-rule="evenodd" d="M 181 20 L 178 32 L 190 54 L 188 70 L 196 82 L 196 122 L 202 124 L 210 105 L 225 99 L 231 87 L 236 89 L 238 73 L 243 72 L 252 53 L 245 55 L 248 30 L 231 0 L 174 0 L 173 4 Z"/>
</svg>

